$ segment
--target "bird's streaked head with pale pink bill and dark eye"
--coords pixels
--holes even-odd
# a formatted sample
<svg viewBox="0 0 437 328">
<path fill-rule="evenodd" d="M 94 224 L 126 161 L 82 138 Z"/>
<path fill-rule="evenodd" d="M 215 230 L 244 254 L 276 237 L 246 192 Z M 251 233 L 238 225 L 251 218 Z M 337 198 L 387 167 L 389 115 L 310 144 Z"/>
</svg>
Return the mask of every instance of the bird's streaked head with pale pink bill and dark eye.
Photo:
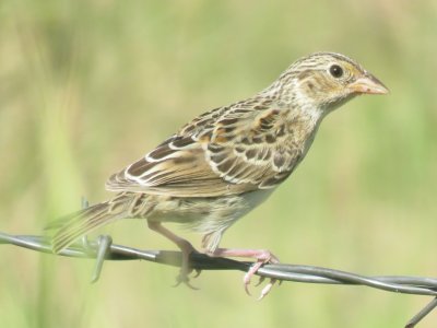
<svg viewBox="0 0 437 328">
<path fill-rule="evenodd" d="M 279 79 L 280 98 L 327 114 L 361 94 L 387 94 L 377 78 L 352 59 L 317 52 L 295 61 Z"/>
</svg>

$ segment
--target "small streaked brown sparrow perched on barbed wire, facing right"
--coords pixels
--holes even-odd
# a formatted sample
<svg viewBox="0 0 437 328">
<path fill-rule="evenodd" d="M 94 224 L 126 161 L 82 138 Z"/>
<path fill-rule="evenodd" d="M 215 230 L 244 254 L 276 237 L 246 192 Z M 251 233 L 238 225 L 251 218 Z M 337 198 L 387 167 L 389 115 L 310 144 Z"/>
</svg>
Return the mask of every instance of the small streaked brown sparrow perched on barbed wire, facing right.
<svg viewBox="0 0 437 328">
<path fill-rule="evenodd" d="M 322 51 L 297 59 L 253 96 L 201 114 L 111 175 L 106 189 L 115 196 L 55 224 L 52 250 L 110 222 L 145 219 L 181 250 L 178 282 L 190 285 L 189 257 L 197 250 L 163 225 L 176 222 L 203 236 L 201 247 L 209 256 L 252 258 L 244 277 L 248 292 L 252 276 L 279 259 L 265 249 L 222 248 L 223 234 L 296 169 L 329 113 L 355 96 L 388 92 L 344 55 Z"/>
</svg>

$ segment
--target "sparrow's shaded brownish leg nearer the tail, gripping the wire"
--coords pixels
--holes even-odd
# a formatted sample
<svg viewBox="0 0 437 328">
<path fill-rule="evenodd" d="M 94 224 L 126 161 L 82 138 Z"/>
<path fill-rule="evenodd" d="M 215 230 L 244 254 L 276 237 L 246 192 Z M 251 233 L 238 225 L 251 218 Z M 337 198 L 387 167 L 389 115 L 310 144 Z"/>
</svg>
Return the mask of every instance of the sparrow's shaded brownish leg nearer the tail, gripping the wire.
<svg viewBox="0 0 437 328">
<path fill-rule="evenodd" d="M 177 277 L 177 282 L 176 285 L 180 284 L 184 282 L 186 285 L 188 285 L 190 289 L 196 290 L 194 286 L 192 286 L 189 281 L 190 279 L 188 278 L 188 274 L 191 272 L 190 268 L 190 254 L 192 251 L 196 251 L 194 247 L 190 244 L 190 242 L 175 235 L 173 232 L 170 232 L 168 229 L 165 229 L 164 226 L 161 225 L 161 222 L 156 221 L 150 221 L 147 220 L 147 226 L 157 232 L 158 234 L 163 235 L 164 237 L 170 239 L 173 243 L 175 243 L 179 249 L 182 253 L 182 263 L 180 266 L 180 272 L 179 276 Z"/>
</svg>

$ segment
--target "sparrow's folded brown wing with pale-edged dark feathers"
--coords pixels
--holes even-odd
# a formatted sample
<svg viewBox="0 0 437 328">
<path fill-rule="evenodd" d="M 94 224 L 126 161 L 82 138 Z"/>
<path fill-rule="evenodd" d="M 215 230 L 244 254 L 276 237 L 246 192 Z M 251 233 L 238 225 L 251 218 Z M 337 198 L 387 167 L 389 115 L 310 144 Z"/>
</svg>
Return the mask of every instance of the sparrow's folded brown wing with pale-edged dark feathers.
<svg viewBox="0 0 437 328">
<path fill-rule="evenodd" d="M 113 191 L 215 197 L 273 188 L 299 162 L 283 110 L 237 103 L 194 119 L 113 175 Z"/>
</svg>

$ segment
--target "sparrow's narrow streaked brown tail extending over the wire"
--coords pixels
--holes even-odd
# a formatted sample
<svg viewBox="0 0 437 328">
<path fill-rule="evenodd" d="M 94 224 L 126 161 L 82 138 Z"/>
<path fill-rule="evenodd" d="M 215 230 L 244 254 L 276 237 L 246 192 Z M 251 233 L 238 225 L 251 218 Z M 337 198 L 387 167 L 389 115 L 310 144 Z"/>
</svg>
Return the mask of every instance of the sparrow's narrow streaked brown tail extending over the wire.
<svg viewBox="0 0 437 328">
<path fill-rule="evenodd" d="M 119 194 L 114 199 L 101 202 L 81 211 L 61 218 L 52 222 L 46 229 L 57 230 L 51 238 L 54 253 L 59 253 L 70 246 L 80 236 L 114 222 L 119 219 L 134 216 L 137 204 L 146 201 L 141 199 L 141 195 Z M 146 207 L 142 204 L 142 208 Z"/>
</svg>

